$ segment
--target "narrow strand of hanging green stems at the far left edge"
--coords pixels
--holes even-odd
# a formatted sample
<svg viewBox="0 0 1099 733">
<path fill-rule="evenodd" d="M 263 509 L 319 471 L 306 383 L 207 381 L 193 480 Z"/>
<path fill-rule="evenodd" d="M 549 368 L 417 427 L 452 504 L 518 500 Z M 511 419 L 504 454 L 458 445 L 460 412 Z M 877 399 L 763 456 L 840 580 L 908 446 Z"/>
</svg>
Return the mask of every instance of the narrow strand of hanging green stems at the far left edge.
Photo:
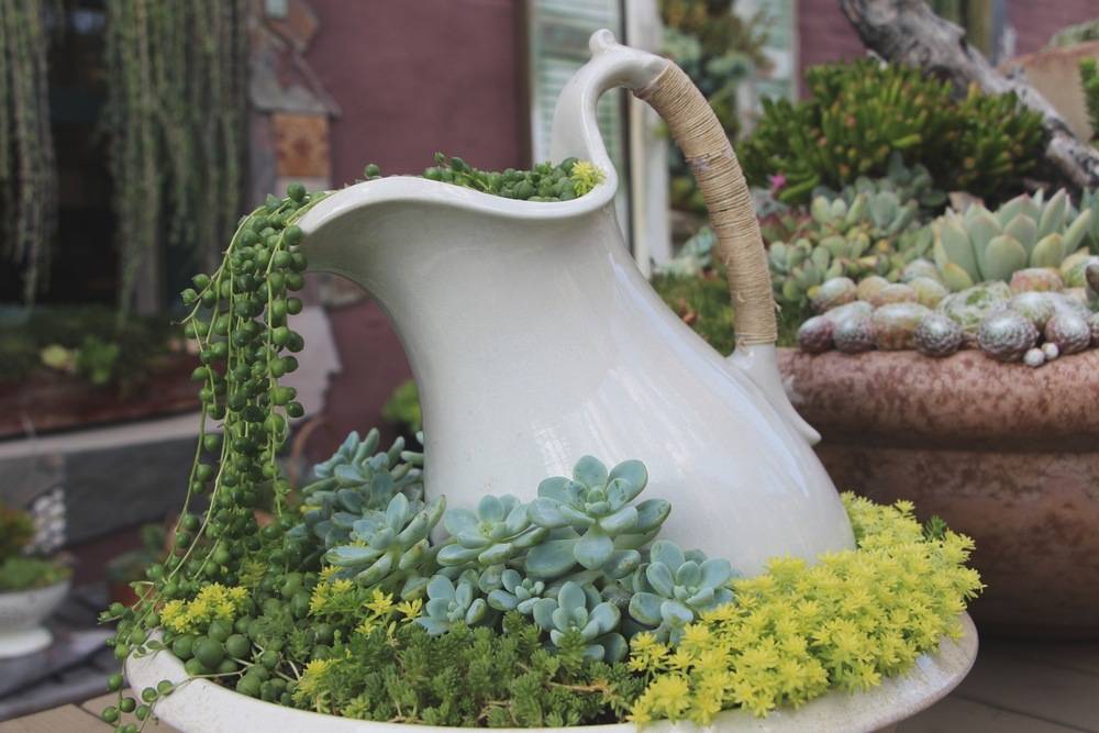
<svg viewBox="0 0 1099 733">
<path fill-rule="evenodd" d="M 0 248 L 34 301 L 49 266 L 57 173 L 49 132 L 43 0 L 0 0 Z"/>
</svg>

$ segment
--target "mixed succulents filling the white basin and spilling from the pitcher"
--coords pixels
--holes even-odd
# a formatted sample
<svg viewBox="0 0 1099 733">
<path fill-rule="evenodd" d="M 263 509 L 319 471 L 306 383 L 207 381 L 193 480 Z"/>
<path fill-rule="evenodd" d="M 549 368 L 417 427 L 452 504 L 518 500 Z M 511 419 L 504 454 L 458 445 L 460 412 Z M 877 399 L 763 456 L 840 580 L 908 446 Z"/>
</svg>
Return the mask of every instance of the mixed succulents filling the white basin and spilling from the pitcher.
<svg viewBox="0 0 1099 733">
<path fill-rule="evenodd" d="M 535 201 L 582 196 L 600 179 L 582 160 L 490 173 L 446 156 L 425 175 Z M 709 724 L 726 709 L 765 715 L 832 688 L 865 689 L 959 633 L 957 614 L 980 590 L 965 567 L 972 543 L 925 532 L 904 506 L 845 496 L 857 547 L 742 578 L 725 559 L 659 537 L 673 507 L 642 496 L 641 460 L 579 456 L 567 475 L 448 507 L 425 496 L 423 455 L 402 438 L 385 448 L 369 431 L 291 487 L 279 456 L 303 409 L 280 379 L 304 347 L 291 327 L 306 269 L 296 222 L 322 198 L 298 186 L 270 197 L 242 220 L 221 266 L 184 292 L 203 404 L 188 498 L 171 551 L 134 584 L 137 601 L 102 614 L 116 625 L 119 659 L 164 655 L 182 671 L 133 692 L 111 676 L 118 697 L 102 719 L 114 730 L 141 730 L 192 684 L 425 725 Z M 874 209 L 867 226 L 904 229 L 899 208 Z M 274 520 L 260 526 L 257 509 Z M 869 593 L 886 578 L 896 592 Z M 845 603 L 852 593 L 868 606 Z M 732 638 L 764 643 L 753 609 L 777 608 L 822 614 L 775 626 L 776 669 L 819 670 L 811 678 L 777 685 L 774 670 L 739 662 Z M 868 623 L 864 677 L 835 662 L 846 642 L 815 635 L 825 618 Z M 715 674 L 754 691 L 714 695 Z M 681 704 L 668 707 L 669 690 Z"/>
</svg>

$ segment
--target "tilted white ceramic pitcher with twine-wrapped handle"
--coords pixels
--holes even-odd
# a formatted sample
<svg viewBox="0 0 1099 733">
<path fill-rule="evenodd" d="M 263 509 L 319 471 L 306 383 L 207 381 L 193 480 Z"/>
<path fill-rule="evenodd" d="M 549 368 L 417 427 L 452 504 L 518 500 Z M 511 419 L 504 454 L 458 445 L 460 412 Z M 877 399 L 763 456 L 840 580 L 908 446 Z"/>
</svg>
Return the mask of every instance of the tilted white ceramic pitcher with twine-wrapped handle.
<svg viewBox="0 0 1099 733">
<path fill-rule="evenodd" d="M 609 466 L 637 458 L 651 477 L 641 498 L 673 504 L 662 536 L 728 557 L 742 574 L 761 571 L 769 557 L 811 559 L 852 546 L 836 490 L 810 447 L 815 434 L 779 384 L 751 208 L 751 232 L 733 226 L 731 236 L 754 236 L 758 256 L 744 249 L 731 269 L 764 282 L 748 300 L 747 287 L 735 293 L 737 332 L 742 311 L 753 309 L 770 326 L 763 338 L 742 338 L 729 362 L 653 291 L 614 218 L 619 179 L 596 123 L 600 95 L 633 89 L 685 149 L 685 135 L 720 133 L 717 120 L 704 100 L 700 111 L 692 86 L 691 99 L 664 88 L 673 70 L 686 78 L 666 59 L 619 45 L 607 31 L 590 45 L 592 59 L 558 101 L 552 157 L 601 168 L 606 180 L 591 192 L 528 202 L 390 177 L 343 189 L 301 221 L 312 269 L 366 288 L 404 345 L 423 408 L 426 493 L 445 493 L 449 507 L 476 506 L 486 492 L 531 499 L 543 478 L 568 475 L 585 454 Z M 689 119 L 677 119 L 688 108 Z M 729 190 L 746 195 L 720 140 L 726 149 L 717 157 L 687 149 L 700 181 L 714 160 L 732 159 L 734 174 L 718 181 L 724 189 L 703 186 L 711 213 Z M 719 238 L 730 231 L 715 224 Z"/>
</svg>

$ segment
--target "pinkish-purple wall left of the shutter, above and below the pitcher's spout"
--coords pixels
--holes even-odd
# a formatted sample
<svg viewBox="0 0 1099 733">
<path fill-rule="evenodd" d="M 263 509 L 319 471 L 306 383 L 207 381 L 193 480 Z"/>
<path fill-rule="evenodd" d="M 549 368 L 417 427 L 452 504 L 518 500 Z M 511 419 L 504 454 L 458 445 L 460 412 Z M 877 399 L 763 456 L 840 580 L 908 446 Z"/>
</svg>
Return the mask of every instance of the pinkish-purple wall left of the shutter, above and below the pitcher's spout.
<svg viewBox="0 0 1099 733">
<path fill-rule="evenodd" d="M 489 169 L 525 164 L 521 3 L 512 0 L 311 0 L 320 27 L 307 60 L 342 114 L 332 121 L 332 181 L 422 171 L 435 151 Z M 330 454 L 351 430 L 381 426 L 410 375 L 373 301 L 330 311 L 343 371 L 308 442 Z M 391 432 L 391 431 L 389 431 Z"/>
</svg>

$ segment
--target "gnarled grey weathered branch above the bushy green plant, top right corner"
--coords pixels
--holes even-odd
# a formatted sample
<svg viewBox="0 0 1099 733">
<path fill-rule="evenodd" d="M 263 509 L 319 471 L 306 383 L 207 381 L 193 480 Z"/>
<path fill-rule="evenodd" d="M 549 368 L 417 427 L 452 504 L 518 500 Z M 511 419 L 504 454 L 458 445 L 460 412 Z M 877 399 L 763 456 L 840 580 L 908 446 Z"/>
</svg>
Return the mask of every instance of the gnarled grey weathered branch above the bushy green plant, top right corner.
<svg viewBox="0 0 1099 733">
<path fill-rule="evenodd" d="M 1073 134 L 1065 119 L 1021 75 L 1003 76 L 965 40 L 965 31 L 936 15 L 923 0 L 840 0 L 863 44 L 881 57 L 919 66 L 965 89 L 1013 91 L 1042 114 L 1048 134 L 1045 158 L 1073 188 L 1099 186 L 1099 151 Z"/>
</svg>

